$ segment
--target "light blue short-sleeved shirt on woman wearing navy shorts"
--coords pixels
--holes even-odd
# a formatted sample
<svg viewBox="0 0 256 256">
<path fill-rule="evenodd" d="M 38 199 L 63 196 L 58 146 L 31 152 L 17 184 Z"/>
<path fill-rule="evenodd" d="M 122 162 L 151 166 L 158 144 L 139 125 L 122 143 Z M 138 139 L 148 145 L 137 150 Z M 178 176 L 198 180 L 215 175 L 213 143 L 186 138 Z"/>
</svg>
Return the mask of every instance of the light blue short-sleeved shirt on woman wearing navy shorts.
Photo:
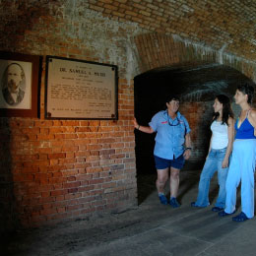
<svg viewBox="0 0 256 256">
<path fill-rule="evenodd" d="M 162 110 L 153 116 L 149 125 L 157 132 L 154 155 L 165 160 L 178 158 L 184 152 L 185 135 L 190 132 L 186 118 L 177 112 L 172 120 L 167 110 Z"/>
</svg>

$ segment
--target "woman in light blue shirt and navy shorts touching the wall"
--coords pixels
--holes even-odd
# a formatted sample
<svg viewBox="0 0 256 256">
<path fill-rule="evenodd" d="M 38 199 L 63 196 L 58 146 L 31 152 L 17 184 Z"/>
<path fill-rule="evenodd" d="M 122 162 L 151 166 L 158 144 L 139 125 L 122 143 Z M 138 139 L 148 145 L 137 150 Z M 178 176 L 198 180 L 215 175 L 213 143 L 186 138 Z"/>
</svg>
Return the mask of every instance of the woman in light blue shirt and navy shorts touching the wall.
<svg viewBox="0 0 256 256">
<path fill-rule="evenodd" d="M 166 110 L 153 116 L 149 126 L 141 126 L 134 118 L 134 127 L 145 133 L 157 132 L 154 157 L 158 171 L 156 181 L 160 203 L 167 205 L 163 193 L 170 170 L 170 200 L 173 208 L 179 207 L 176 200 L 179 186 L 179 171 L 191 154 L 190 128 L 186 118 L 180 114 L 179 98 L 169 96 L 166 99 Z"/>
</svg>

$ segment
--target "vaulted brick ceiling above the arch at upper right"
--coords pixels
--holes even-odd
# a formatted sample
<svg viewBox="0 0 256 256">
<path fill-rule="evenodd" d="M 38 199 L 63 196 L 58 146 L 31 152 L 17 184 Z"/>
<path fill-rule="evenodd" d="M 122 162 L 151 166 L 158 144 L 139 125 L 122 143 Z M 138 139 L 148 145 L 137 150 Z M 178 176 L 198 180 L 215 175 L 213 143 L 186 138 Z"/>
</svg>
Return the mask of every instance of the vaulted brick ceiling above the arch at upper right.
<svg viewBox="0 0 256 256">
<path fill-rule="evenodd" d="M 89 8 L 110 19 L 256 59 L 255 0 L 90 1 Z"/>
</svg>

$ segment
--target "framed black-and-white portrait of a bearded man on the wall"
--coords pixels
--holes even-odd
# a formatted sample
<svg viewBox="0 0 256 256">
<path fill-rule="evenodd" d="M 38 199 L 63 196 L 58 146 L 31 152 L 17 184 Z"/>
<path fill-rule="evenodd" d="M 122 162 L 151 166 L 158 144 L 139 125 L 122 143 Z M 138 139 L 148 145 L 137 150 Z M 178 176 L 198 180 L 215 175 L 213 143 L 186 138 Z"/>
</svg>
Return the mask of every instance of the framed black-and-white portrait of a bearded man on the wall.
<svg viewBox="0 0 256 256">
<path fill-rule="evenodd" d="M 37 117 L 40 56 L 0 51 L 0 116 Z"/>
</svg>

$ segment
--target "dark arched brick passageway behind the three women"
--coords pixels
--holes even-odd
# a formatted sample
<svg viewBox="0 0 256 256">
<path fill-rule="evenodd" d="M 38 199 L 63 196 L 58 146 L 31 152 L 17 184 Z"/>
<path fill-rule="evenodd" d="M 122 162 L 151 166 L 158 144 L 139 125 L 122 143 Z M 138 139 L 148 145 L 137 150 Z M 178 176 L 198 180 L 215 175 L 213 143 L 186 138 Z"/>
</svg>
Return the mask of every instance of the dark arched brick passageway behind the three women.
<svg viewBox="0 0 256 256">
<path fill-rule="evenodd" d="M 166 96 L 180 96 L 179 110 L 190 124 L 193 147 L 183 170 L 200 170 L 209 148 L 215 96 L 224 94 L 232 99 L 238 83 L 244 81 L 252 83 L 236 69 L 218 63 L 186 62 L 153 69 L 134 79 L 135 116 L 141 125 L 148 125 L 155 113 L 166 108 Z M 238 107 L 234 103 L 232 106 L 237 115 Z M 155 135 L 135 131 L 138 176 L 156 173 Z"/>
</svg>

